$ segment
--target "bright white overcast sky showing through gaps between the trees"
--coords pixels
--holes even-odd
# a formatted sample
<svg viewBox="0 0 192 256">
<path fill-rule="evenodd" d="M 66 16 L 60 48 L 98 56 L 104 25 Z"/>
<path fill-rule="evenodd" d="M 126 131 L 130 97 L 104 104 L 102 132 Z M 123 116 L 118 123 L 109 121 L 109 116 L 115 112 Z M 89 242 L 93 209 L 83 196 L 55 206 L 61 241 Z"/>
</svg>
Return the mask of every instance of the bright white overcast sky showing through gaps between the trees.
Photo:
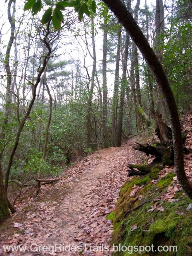
<svg viewBox="0 0 192 256">
<path fill-rule="evenodd" d="M 148 6 L 151 6 L 152 4 L 155 5 L 155 0 L 154 1 L 150 1 L 147 0 L 147 4 Z M 133 1 L 132 3 L 132 8 L 134 8 L 136 3 L 136 0 Z M 2 43 L 0 44 L 0 52 L 2 52 L 3 54 L 5 53 L 6 50 L 6 45 L 10 36 L 10 24 L 8 22 L 8 18 L 7 18 L 7 4 L 6 3 L 2 3 L 0 5 L 0 28 L 2 28 Z M 144 4 L 145 4 L 145 0 L 141 0 L 140 2 L 140 8 L 144 8 Z M 16 0 L 16 20 L 18 20 L 18 18 L 20 18 L 23 14 L 23 1 L 22 0 Z M 21 30 L 25 27 L 28 26 L 28 20 L 32 17 L 30 12 L 26 11 L 25 12 L 25 19 L 23 22 L 23 25 L 21 26 Z M 40 14 L 41 16 L 42 14 Z M 2 27 L 2 25 L 4 24 L 4 26 Z M 16 23 L 16 26 L 18 27 L 18 22 Z M 79 30 L 83 27 L 83 23 L 79 23 L 78 24 Z M 98 35 L 96 35 L 95 37 L 95 41 L 96 41 L 96 56 L 97 56 L 97 70 L 99 70 L 99 67 L 102 64 L 102 36 L 103 33 L 101 30 L 99 30 L 99 28 L 96 28 L 98 30 Z M 74 36 L 72 36 L 73 34 L 69 31 L 67 33 L 65 33 L 65 38 L 63 38 L 60 42 L 60 48 L 58 49 L 57 53 L 61 54 L 61 59 L 62 60 L 68 60 L 71 58 L 74 59 L 79 59 L 81 61 L 81 63 L 83 64 L 84 62 L 84 54 L 83 52 L 86 52 L 86 47 L 82 41 L 82 39 L 84 40 L 84 37 L 81 38 L 80 36 L 78 36 L 77 38 L 74 38 Z M 73 44 L 68 44 L 73 42 Z M 90 44 L 90 51 L 92 53 L 92 47 L 91 47 L 91 40 L 88 40 L 88 43 Z M 18 46 L 19 47 L 19 46 Z M 12 51 L 11 51 L 11 55 L 14 55 L 14 51 L 13 51 L 13 47 L 12 47 Z M 24 58 L 24 56 L 19 56 L 20 59 Z M 90 58 L 88 52 L 87 52 L 87 57 L 86 57 L 86 66 L 88 66 L 88 70 L 89 73 L 91 75 L 91 70 L 92 70 L 92 59 Z M 108 68 L 110 68 L 111 70 L 114 70 L 115 64 L 110 64 L 108 65 Z M 68 66 L 68 68 L 70 68 L 70 66 Z M 4 71 L 2 70 L 0 72 L 1 75 L 3 75 Z M 100 79 L 101 80 L 101 79 Z M 102 80 L 101 80 L 102 81 Z M 108 90 L 109 90 L 109 96 L 112 95 L 112 88 L 114 86 L 114 76 L 108 72 Z M 101 83 L 102 85 L 102 83 Z"/>
</svg>

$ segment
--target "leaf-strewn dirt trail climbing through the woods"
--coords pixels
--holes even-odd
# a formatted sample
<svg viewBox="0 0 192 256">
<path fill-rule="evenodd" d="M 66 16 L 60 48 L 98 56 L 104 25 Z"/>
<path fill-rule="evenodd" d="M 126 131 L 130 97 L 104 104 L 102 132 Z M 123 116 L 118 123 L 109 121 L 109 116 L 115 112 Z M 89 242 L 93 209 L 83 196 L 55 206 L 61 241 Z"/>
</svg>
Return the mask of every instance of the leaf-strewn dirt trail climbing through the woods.
<svg viewBox="0 0 192 256">
<path fill-rule="evenodd" d="M 110 246 L 112 224 L 106 216 L 114 210 L 120 187 L 127 180 L 127 165 L 138 163 L 141 158 L 141 153 L 132 149 L 132 143 L 130 140 L 120 148 L 97 151 L 69 168 L 67 178 L 54 186 L 45 186 L 36 200 L 21 207 L 0 230 L 0 245 L 22 244 L 29 250 L 33 243 L 38 247 L 60 244 L 57 246 L 64 246 L 63 252 L 59 247 L 44 252 L 34 245 L 34 252 L 6 253 L 0 249 L 0 255 L 73 256 L 79 255 L 77 250 L 83 249 L 83 244 L 93 247 L 81 255 L 111 255 L 93 250 L 100 244 Z M 71 251 L 67 252 L 69 245 Z M 72 252 L 73 245 L 80 247 L 74 247 Z"/>
</svg>

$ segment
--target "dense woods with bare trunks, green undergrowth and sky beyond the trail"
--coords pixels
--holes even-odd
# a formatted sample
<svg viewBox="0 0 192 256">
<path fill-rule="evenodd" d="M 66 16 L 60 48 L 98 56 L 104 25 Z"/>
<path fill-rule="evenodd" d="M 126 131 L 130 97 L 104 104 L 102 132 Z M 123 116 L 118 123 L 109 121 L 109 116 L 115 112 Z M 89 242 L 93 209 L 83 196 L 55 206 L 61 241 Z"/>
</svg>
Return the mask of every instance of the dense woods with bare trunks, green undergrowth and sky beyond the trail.
<svg viewBox="0 0 192 256">
<path fill-rule="evenodd" d="M 170 158 L 191 197 L 178 114 L 192 110 L 192 3 L 66 3 L 2 6 L 0 222 L 76 160 L 148 138 L 157 116 L 172 127 L 164 142 L 173 138 Z"/>
</svg>

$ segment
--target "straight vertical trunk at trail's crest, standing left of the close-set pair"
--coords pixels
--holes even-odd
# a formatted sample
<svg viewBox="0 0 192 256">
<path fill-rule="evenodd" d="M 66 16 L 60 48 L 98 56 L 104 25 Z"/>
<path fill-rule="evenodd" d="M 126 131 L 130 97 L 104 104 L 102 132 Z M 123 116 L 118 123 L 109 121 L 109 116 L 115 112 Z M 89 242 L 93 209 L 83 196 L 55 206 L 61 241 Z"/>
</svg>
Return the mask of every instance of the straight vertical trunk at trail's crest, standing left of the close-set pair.
<svg viewBox="0 0 192 256">
<path fill-rule="evenodd" d="M 102 75 L 103 75 L 103 142 L 104 148 L 109 147 L 108 134 L 108 97 L 107 97 L 107 21 L 104 19 L 103 26 L 103 60 L 102 60 Z"/>
</svg>

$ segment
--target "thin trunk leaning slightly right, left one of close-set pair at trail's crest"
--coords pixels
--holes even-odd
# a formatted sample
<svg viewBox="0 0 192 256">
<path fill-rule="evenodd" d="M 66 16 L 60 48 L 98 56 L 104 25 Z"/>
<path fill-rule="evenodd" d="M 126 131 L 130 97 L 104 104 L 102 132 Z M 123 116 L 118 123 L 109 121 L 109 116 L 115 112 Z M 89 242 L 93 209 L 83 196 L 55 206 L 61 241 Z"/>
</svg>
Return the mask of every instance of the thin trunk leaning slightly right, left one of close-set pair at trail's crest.
<svg viewBox="0 0 192 256">
<path fill-rule="evenodd" d="M 119 63 L 120 63 L 120 47 L 121 47 L 121 30 L 122 27 L 118 29 L 117 32 L 117 55 L 116 55 L 116 68 L 115 68 L 115 81 L 114 81 L 114 91 L 112 100 L 112 142 L 113 147 L 116 146 L 116 128 L 117 128 L 117 106 L 118 106 L 118 90 L 119 90 Z"/>
</svg>

